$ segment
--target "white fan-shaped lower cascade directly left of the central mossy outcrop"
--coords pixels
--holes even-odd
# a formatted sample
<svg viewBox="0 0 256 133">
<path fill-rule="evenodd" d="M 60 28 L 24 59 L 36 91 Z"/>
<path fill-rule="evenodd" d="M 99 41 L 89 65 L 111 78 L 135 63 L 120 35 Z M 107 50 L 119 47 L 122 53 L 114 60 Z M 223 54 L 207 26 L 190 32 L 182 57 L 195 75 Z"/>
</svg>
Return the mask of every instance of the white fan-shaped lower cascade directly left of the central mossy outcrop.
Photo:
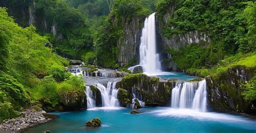
<svg viewBox="0 0 256 133">
<path fill-rule="evenodd" d="M 116 88 L 117 82 L 107 82 L 106 87 L 100 83 L 97 83 L 102 94 L 102 107 L 118 107 L 119 101 L 117 99 L 118 90 Z"/>
</svg>

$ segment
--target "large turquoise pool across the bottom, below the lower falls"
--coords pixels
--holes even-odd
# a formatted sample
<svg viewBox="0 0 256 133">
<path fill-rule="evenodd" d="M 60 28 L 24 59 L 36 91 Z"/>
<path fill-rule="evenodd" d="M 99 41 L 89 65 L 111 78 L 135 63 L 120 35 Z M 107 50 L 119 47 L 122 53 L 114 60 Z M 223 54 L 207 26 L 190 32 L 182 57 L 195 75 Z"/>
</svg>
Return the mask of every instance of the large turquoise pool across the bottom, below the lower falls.
<svg viewBox="0 0 256 133">
<path fill-rule="evenodd" d="M 220 113 L 200 113 L 189 109 L 164 107 L 143 108 L 145 113 L 130 114 L 131 109 L 82 110 L 79 112 L 53 113 L 60 116 L 25 132 L 253 132 L 256 121 L 242 116 Z M 102 127 L 84 127 L 95 117 L 102 120 Z"/>
</svg>

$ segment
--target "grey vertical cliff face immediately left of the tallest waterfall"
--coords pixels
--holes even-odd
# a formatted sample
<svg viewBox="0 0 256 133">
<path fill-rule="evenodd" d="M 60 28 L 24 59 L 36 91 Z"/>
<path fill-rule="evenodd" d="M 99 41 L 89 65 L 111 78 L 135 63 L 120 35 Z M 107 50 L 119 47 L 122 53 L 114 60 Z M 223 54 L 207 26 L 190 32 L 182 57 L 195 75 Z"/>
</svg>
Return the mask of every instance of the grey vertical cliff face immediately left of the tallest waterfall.
<svg viewBox="0 0 256 133">
<path fill-rule="evenodd" d="M 123 19 L 123 37 L 117 40 L 120 65 L 136 63 L 139 60 L 140 36 L 145 18 Z"/>
</svg>

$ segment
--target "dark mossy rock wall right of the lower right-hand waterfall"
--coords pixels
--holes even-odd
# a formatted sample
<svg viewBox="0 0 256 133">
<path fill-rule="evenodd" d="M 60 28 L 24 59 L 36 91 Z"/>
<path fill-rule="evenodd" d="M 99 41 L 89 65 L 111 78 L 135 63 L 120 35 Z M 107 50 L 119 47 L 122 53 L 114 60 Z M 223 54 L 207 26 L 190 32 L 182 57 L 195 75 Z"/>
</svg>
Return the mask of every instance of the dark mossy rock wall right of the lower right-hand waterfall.
<svg viewBox="0 0 256 133">
<path fill-rule="evenodd" d="M 208 105 L 211 110 L 255 115 L 256 101 L 245 101 L 241 85 L 253 76 L 253 69 L 242 66 L 229 68 L 219 77 L 206 78 Z"/>
</svg>

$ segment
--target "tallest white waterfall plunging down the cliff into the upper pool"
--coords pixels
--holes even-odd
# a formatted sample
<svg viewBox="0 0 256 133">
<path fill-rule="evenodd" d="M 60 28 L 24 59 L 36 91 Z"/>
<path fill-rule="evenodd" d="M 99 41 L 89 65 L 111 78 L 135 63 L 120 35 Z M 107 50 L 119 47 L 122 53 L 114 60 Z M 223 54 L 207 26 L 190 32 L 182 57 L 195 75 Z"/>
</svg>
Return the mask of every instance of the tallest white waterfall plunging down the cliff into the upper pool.
<svg viewBox="0 0 256 133">
<path fill-rule="evenodd" d="M 154 14 L 152 13 L 145 19 L 142 36 L 140 37 L 139 65 L 142 65 L 143 73 L 146 75 L 157 75 L 161 71 L 161 63 L 156 46 L 156 20 Z M 138 65 L 134 67 L 138 67 Z M 129 70 L 133 70 L 134 67 L 129 68 Z"/>
</svg>

